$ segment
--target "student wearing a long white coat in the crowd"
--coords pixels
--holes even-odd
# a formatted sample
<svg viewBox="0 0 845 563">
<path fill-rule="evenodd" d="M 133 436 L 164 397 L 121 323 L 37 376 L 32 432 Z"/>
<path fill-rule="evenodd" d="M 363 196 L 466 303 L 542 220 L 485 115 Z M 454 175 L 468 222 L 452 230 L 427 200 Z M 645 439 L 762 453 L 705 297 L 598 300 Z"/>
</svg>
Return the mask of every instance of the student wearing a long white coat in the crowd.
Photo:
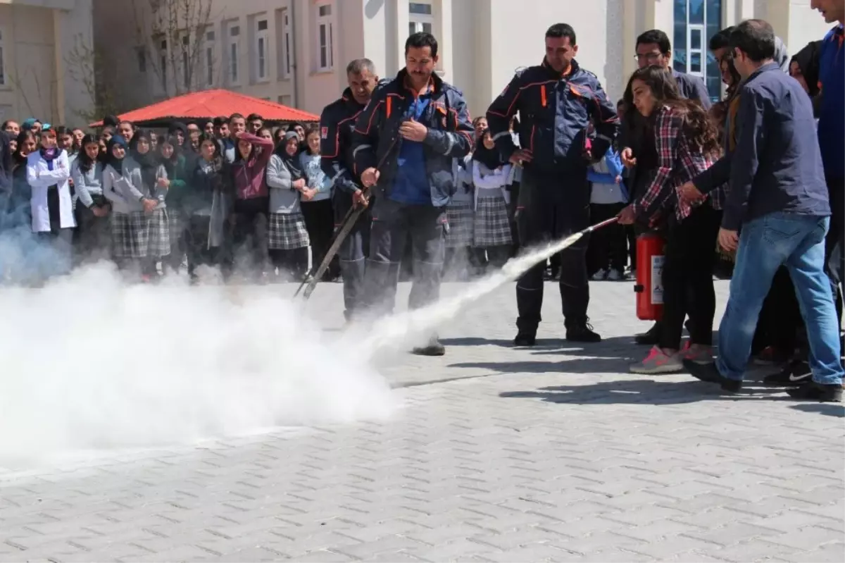
<svg viewBox="0 0 845 563">
<path fill-rule="evenodd" d="M 57 146 L 56 131 L 41 131 L 41 149 L 26 157 L 26 181 L 32 189 L 32 232 L 52 247 L 44 260 L 45 276 L 67 274 L 72 266 L 76 220 L 70 194 L 68 151 Z"/>
</svg>

